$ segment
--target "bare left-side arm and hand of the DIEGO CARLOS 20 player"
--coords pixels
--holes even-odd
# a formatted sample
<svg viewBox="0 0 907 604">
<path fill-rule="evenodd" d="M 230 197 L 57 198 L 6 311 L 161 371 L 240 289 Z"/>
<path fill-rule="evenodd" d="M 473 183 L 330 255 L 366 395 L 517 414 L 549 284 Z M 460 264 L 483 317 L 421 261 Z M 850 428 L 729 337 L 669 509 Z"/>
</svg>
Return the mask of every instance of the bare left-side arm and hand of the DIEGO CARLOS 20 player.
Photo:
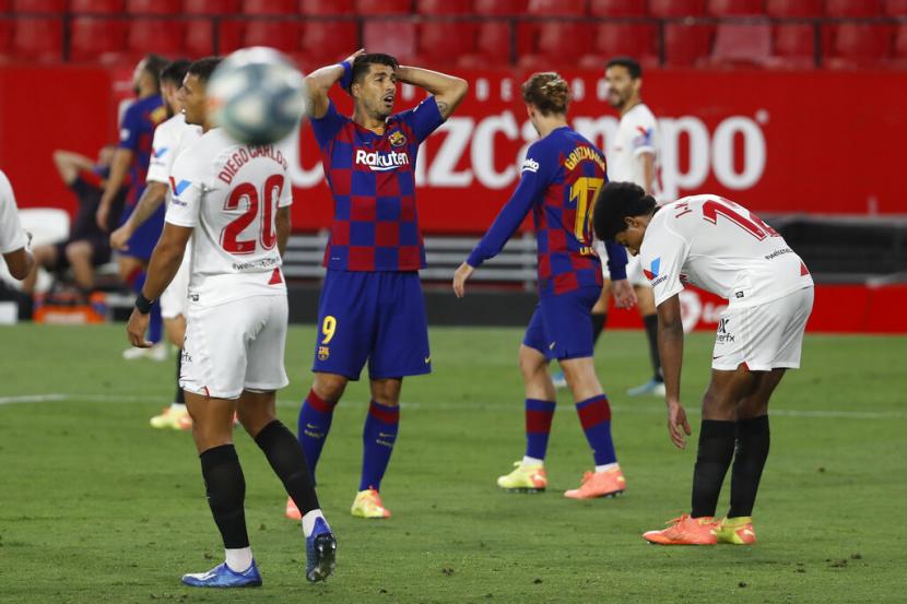
<svg viewBox="0 0 907 604">
<path fill-rule="evenodd" d="M 145 285 L 142 287 L 142 296 L 146 300 L 156 300 L 170 284 L 176 272 L 179 270 L 179 264 L 182 262 L 182 256 L 186 252 L 186 245 L 189 242 L 189 237 L 192 236 L 192 227 L 177 226 L 175 224 L 165 223 L 164 232 L 161 234 L 161 239 L 151 254 L 151 262 L 148 267 L 148 279 Z M 142 313 L 138 308 L 132 309 L 132 315 L 129 317 L 129 323 L 126 325 L 126 332 L 129 336 L 129 342 L 138 348 L 150 348 L 152 343 L 145 340 L 145 331 L 148 330 L 149 315 Z"/>
</svg>

